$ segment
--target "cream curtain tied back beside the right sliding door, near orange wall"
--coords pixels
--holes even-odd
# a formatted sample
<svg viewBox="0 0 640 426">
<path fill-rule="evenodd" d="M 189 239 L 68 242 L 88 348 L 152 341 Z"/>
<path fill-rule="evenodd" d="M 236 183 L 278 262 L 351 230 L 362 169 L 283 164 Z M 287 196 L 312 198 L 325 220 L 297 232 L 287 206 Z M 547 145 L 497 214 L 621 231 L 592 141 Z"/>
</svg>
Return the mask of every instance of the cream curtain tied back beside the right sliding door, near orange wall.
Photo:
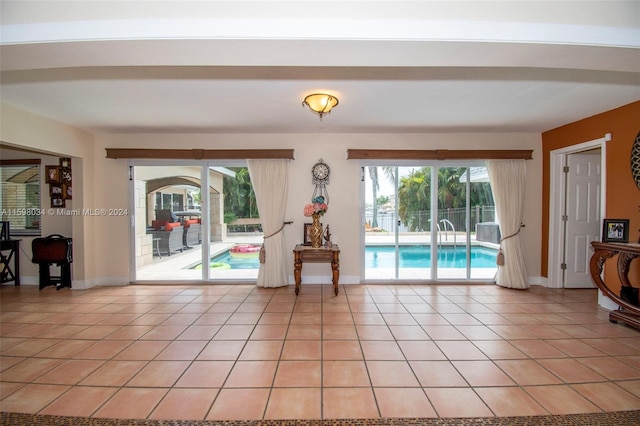
<svg viewBox="0 0 640 426">
<path fill-rule="evenodd" d="M 525 171 L 525 160 L 487 161 L 504 254 L 504 265 L 498 265 L 496 276 L 496 283 L 502 287 L 529 288 L 519 232 L 524 214 Z"/>
</svg>

